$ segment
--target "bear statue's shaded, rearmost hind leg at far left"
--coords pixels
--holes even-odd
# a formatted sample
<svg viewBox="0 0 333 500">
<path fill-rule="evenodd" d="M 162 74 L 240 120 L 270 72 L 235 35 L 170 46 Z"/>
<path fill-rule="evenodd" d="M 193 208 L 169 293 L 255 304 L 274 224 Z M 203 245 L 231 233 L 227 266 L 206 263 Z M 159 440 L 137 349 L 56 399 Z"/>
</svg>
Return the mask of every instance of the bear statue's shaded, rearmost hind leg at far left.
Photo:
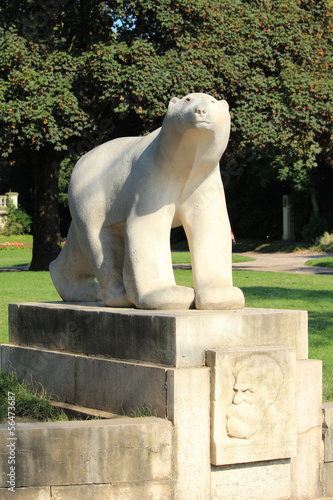
<svg viewBox="0 0 333 500">
<path fill-rule="evenodd" d="M 57 292 L 66 302 L 103 300 L 92 266 L 80 248 L 73 223 L 63 249 L 50 264 L 50 274 Z"/>
</svg>

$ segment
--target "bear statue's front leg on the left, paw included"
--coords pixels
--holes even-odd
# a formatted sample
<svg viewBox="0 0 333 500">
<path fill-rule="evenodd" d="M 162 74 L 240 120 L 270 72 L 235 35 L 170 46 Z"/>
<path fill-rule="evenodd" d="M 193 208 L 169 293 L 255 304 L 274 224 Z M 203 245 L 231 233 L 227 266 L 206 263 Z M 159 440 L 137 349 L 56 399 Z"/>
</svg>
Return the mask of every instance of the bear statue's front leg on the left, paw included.
<svg viewBox="0 0 333 500">
<path fill-rule="evenodd" d="M 189 309 L 194 290 L 177 286 L 172 270 L 172 205 L 144 215 L 131 214 L 125 225 L 124 284 L 139 309 Z"/>
</svg>

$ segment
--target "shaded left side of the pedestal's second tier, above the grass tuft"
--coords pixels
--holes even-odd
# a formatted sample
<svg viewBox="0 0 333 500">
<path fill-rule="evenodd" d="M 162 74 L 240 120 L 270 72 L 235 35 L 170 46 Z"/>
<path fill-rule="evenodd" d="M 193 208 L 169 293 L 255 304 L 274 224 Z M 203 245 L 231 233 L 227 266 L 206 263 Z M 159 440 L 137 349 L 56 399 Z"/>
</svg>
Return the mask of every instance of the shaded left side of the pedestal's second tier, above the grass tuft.
<svg viewBox="0 0 333 500">
<path fill-rule="evenodd" d="M 2 345 L 1 366 L 38 381 L 59 401 L 122 414 L 150 406 L 166 416 L 166 369 L 42 349 Z"/>
</svg>

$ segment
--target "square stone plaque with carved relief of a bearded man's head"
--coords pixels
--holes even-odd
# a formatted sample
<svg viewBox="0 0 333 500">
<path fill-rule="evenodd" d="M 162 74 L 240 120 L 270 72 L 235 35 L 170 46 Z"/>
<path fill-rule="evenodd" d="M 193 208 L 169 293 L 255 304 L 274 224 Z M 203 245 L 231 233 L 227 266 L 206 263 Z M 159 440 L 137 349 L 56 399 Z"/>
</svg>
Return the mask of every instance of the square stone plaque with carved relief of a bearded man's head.
<svg viewBox="0 0 333 500">
<path fill-rule="evenodd" d="M 240 464 L 296 454 L 295 349 L 207 351 L 211 462 Z"/>
</svg>

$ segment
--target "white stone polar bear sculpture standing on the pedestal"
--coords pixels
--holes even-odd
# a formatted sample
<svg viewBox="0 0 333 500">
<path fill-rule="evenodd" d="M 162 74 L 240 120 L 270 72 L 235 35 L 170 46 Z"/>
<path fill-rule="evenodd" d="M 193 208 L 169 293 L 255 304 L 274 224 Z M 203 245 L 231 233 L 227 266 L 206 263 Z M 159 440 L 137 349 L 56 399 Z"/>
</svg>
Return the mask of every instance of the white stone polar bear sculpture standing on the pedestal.
<svg viewBox="0 0 333 500">
<path fill-rule="evenodd" d="M 70 302 L 144 309 L 239 309 L 219 171 L 229 107 L 207 94 L 173 97 L 162 127 L 83 156 L 69 184 L 72 224 L 50 272 Z M 194 288 L 176 286 L 170 230 L 185 229 Z M 97 278 L 98 283 L 95 278 Z"/>
</svg>

